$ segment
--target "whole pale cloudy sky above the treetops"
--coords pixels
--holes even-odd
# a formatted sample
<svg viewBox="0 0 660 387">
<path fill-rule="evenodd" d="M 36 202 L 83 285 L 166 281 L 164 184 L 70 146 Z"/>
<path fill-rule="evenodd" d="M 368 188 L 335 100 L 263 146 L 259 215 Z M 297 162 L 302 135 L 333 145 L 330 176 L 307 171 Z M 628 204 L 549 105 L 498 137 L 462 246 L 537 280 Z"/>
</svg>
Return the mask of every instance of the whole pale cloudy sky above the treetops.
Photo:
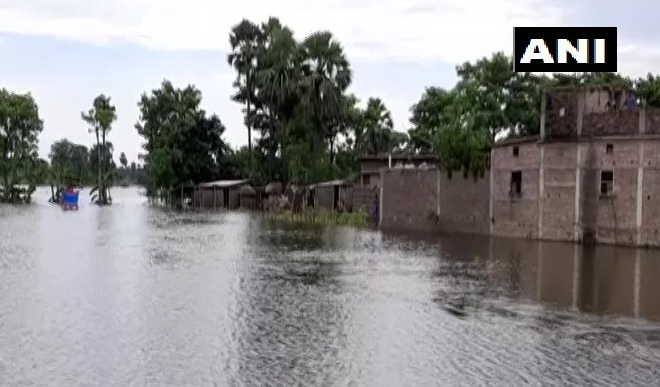
<svg viewBox="0 0 660 387">
<path fill-rule="evenodd" d="M 0 87 L 37 100 L 44 158 L 64 137 L 92 144 L 80 113 L 104 93 L 117 107 L 115 158 L 136 160 L 137 101 L 165 78 L 197 86 L 202 107 L 240 146 L 247 132 L 229 99 L 229 31 L 243 18 L 275 16 L 300 39 L 331 31 L 353 67 L 351 92 L 380 97 L 405 130 L 425 87 L 455 83 L 456 64 L 511 53 L 514 26 L 616 26 L 619 72 L 660 72 L 659 11 L 641 0 L 0 0 Z"/>
</svg>

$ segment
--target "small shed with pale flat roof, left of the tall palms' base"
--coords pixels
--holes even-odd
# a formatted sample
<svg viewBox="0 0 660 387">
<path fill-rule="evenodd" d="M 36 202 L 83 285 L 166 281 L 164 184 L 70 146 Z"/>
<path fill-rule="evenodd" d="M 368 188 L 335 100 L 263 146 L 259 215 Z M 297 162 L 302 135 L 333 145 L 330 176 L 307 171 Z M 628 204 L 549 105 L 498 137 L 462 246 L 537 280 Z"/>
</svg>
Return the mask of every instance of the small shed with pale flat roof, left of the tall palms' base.
<svg viewBox="0 0 660 387">
<path fill-rule="evenodd" d="M 249 180 L 218 180 L 195 187 L 193 206 L 199 208 L 252 208 L 256 192 Z"/>
</svg>

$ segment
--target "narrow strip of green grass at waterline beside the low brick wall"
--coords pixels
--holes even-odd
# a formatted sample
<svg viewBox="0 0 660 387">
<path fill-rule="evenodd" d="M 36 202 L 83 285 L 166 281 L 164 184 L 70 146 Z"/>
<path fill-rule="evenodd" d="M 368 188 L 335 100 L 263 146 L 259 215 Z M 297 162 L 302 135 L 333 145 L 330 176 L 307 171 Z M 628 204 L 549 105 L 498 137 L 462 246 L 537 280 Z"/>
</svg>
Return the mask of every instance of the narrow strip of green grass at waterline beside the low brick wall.
<svg viewBox="0 0 660 387">
<path fill-rule="evenodd" d="M 369 216 L 362 211 L 358 212 L 332 212 L 321 210 L 308 210 L 301 213 L 285 211 L 281 213 L 266 213 L 266 219 L 296 224 L 310 224 L 322 226 L 349 226 L 367 227 Z"/>
</svg>

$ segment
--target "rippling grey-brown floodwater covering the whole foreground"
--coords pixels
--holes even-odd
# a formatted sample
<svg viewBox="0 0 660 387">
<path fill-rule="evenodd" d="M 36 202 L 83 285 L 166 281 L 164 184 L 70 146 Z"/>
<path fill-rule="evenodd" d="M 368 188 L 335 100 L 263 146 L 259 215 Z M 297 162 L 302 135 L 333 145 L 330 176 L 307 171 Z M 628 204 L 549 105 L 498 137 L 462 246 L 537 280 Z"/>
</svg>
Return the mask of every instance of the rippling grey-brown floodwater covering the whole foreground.
<svg viewBox="0 0 660 387">
<path fill-rule="evenodd" d="M 0 207 L 0 386 L 660 380 L 657 252 L 46 198 Z"/>
</svg>

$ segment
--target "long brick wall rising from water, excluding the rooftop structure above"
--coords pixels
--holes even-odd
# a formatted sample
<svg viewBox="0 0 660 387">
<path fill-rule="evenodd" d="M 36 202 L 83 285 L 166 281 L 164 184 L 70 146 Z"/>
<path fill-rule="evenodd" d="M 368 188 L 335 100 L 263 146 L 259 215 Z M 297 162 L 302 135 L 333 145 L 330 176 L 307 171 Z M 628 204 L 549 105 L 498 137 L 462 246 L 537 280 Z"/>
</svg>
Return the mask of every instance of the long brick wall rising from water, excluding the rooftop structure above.
<svg viewBox="0 0 660 387">
<path fill-rule="evenodd" d="M 512 143 L 491 164 L 476 179 L 382 170 L 380 226 L 660 246 L 660 136 Z M 605 194 L 603 173 L 613 176 Z"/>
</svg>

